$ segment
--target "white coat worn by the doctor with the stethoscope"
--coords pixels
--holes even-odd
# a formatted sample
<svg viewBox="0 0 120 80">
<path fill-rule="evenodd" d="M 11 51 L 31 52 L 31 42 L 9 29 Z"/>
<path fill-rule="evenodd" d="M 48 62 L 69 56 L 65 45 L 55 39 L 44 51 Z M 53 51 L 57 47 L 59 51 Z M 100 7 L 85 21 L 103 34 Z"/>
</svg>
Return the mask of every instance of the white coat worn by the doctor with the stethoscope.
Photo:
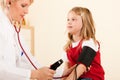
<svg viewBox="0 0 120 80">
<path fill-rule="evenodd" d="M 20 41 L 35 66 L 40 68 L 40 64 L 31 55 L 21 36 Z M 21 53 L 17 33 L 0 8 L 0 80 L 29 80 L 31 69 L 34 68 Z"/>
</svg>

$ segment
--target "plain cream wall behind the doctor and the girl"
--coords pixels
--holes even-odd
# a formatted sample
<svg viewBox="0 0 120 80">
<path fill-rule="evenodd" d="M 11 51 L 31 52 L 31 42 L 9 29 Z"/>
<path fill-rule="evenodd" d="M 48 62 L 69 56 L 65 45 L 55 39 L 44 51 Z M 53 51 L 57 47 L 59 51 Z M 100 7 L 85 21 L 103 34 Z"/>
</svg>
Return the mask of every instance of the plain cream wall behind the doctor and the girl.
<svg viewBox="0 0 120 80">
<path fill-rule="evenodd" d="M 28 19 L 35 27 L 35 57 L 48 66 L 61 57 L 66 15 L 74 6 L 85 6 L 91 10 L 96 24 L 105 80 L 120 80 L 119 3 L 119 0 L 34 0 Z"/>
</svg>

